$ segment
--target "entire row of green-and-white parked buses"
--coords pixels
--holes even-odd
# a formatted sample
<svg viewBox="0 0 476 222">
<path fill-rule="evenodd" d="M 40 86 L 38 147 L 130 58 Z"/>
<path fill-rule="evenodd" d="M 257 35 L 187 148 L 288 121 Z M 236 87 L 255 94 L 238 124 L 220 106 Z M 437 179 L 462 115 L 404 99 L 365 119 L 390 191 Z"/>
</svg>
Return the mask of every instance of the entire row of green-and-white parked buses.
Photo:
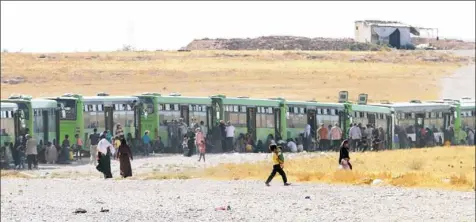
<svg viewBox="0 0 476 222">
<path fill-rule="evenodd" d="M 1 101 L 1 140 L 3 145 L 12 141 L 13 136 L 29 133 L 39 142 L 61 144 L 65 135 L 70 138 L 78 135 L 86 141 L 95 128 L 98 132 L 114 132 L 115 125 L 121 124 L 124 135 L 140 138 L 147 130 L 151 138 L 160 136 L 167 144 L 168 124 L 179 118 L 187 125 L 203 121 L 207 129 L 215 127 L 219 120 L 230 121 L 236 128 L 235 136 L 249 133 L 255 141 L 265 141 L 269 134 L 281 139 L 296 138 L 307 124 L 312 132 L 316 132 L 320 124 L 337 123 L 344 132 L 348 132 L 351 123 L 372 124 L 384 129 L 385 140 L 392 141 L 387 143 L 389 148 L 398 148 L 395 135 L 400 128 L 405 128 L 407 137 L 413 141 L 416 140 L 415 129 L 419 127 L 433 129 L 435 137 L 444 137 L 443 131 L 450 125 L 455 132 L 464 127 L 474 130 L 475 102 L 465 98 L 367 104 L 367 95 L 361 94 L 357 103 L 351 103 L 346 91 L 339 92 L 336 103 L 158 93 L 65 94 L 41 99 L 11 96 Z"/>
</svg>

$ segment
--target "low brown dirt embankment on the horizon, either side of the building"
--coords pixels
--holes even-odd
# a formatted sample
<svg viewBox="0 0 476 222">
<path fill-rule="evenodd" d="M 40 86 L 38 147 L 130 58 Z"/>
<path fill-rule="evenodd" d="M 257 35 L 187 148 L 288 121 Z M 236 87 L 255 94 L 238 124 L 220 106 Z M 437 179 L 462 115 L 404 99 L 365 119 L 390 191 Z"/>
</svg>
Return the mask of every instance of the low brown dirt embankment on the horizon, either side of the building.
<svg viewBox="0 0 476 222">
<path fill-rule="evenodd" d="M 414 38 L 413 44 L 428 44 L 438 49 L 474 49 L 474 42 L 454 39 Z M 185 50 L 313 50 L 313 51 L 376 51 L 383 46 L 358 43 L 352 38 L 306 38 L 295 36 L 263 36 L 258 38 L 196 39 Z"/>
</svg>

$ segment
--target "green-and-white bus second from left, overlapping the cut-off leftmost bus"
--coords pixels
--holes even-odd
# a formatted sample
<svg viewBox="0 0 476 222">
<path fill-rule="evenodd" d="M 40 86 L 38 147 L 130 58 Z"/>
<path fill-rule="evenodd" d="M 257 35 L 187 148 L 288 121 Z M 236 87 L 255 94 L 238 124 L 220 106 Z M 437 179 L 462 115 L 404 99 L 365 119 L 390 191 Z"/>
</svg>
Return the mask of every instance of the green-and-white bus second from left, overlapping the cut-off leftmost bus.
<svg viewBox="0 0 476 222">
<path fill-rule="evenodd" d="M 11 96 L 2 102 L 16 103 L 24 114 L 24 134 L 30 134 L 38 143 L 57 142 L 59 139 L 59 112 L 57 102 L 49 99 L 31 99 L 30 96 Z"/>
</svg>

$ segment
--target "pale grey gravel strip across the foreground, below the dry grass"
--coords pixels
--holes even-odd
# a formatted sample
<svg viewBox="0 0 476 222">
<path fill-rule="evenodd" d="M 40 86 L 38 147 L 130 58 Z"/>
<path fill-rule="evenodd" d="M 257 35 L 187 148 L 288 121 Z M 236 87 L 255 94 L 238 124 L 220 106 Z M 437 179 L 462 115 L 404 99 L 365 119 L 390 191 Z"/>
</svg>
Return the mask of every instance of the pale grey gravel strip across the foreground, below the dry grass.
<svg viewBox="0 0 476 222">
<path fill-rule="evenodd" d="M 474 221 L 474 192 L 260 181 L 2 179 L 2 221 Z M 310 199 L 305 197 L 309 196 Z M 230 211 L 215 210 L 230 206 Z M 100 212 L 101 208 L 109 212 Z M 87 210 L 74 214 L 77 208 Z"/>
</svg>

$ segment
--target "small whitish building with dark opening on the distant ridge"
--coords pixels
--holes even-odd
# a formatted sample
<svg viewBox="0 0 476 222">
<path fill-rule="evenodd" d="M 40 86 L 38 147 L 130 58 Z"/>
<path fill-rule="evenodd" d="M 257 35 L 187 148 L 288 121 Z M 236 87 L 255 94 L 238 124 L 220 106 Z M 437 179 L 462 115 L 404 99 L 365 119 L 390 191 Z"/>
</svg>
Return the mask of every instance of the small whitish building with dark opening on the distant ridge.
<svg viewBox="0 0 476 222">
<path fill-rule="evenodd" d="M 405 48 L 412 44 L 411 35 L 419 36 L 417 28 L 395 21 L 364 20 L 355 22 L 355 41 L 389 44 Z"/>
</svg>

